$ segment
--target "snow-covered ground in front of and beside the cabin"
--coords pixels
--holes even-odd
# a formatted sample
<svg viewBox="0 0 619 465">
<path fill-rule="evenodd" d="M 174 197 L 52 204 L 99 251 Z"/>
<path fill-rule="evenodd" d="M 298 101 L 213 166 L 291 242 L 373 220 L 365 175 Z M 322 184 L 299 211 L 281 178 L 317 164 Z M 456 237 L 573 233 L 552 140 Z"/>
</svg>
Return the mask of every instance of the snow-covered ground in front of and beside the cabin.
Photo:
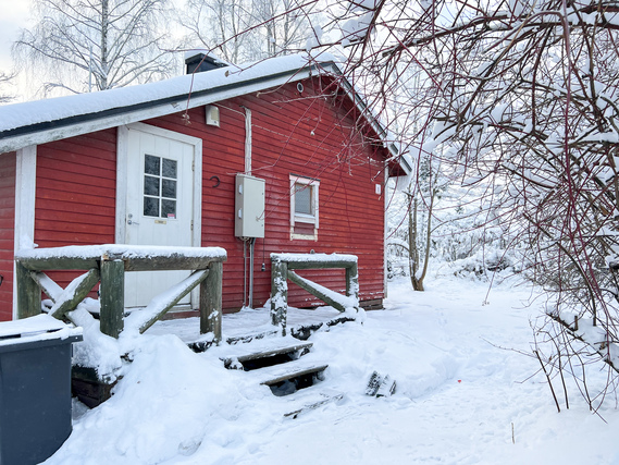
<svg viewBox="0 0 619 465">
<path fill-rule="evenodd" d="M 329 363 L 325 380 L 290 397 L 224 369 L 225 344 L 194 354 L 175 335 L 145 335 L 114 396 L 76 418 L 47 463 L 619 464 L 615 399 L 603 420 L 571 388 L 559 414 L 538 363 L 498 348 L 529 351 L 540 311 L 529 289 L 426 285 L 391 283 L 386 310 L 314 334 L 306 357 Z M 393 396 L 364 394 L 374 370 L 397 381 Z M 319 392 L 344 397 L 283 416 Z"/>
</svg>

